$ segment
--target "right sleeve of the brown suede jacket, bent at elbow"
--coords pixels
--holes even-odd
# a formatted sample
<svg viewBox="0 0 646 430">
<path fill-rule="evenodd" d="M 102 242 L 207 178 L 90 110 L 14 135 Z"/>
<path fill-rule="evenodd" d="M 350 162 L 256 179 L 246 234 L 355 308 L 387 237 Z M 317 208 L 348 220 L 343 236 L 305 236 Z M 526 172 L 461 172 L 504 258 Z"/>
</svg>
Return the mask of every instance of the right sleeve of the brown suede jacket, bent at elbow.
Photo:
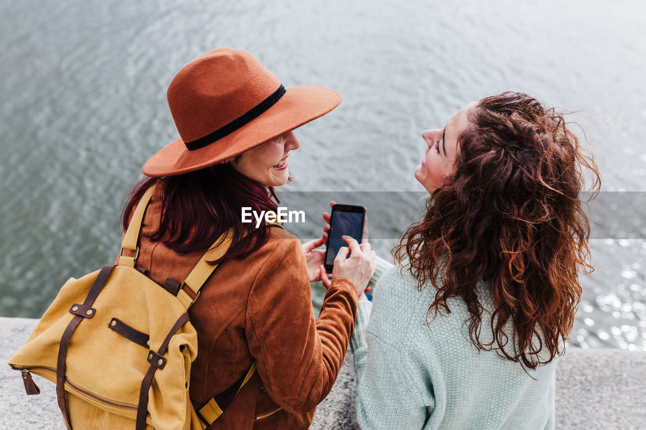
<svg viewBox="0 0 646 430">
<path fill-rule="evenodd" d="M 339 374 L 357 291 L 348 280 L 334 280 L 315 322 L 302 245 L 296 239 L 276 242 L 251 287 L 245 331 L 271 398 L 289 412 L 306 413 L 328 395 Z"/>
</svg>

